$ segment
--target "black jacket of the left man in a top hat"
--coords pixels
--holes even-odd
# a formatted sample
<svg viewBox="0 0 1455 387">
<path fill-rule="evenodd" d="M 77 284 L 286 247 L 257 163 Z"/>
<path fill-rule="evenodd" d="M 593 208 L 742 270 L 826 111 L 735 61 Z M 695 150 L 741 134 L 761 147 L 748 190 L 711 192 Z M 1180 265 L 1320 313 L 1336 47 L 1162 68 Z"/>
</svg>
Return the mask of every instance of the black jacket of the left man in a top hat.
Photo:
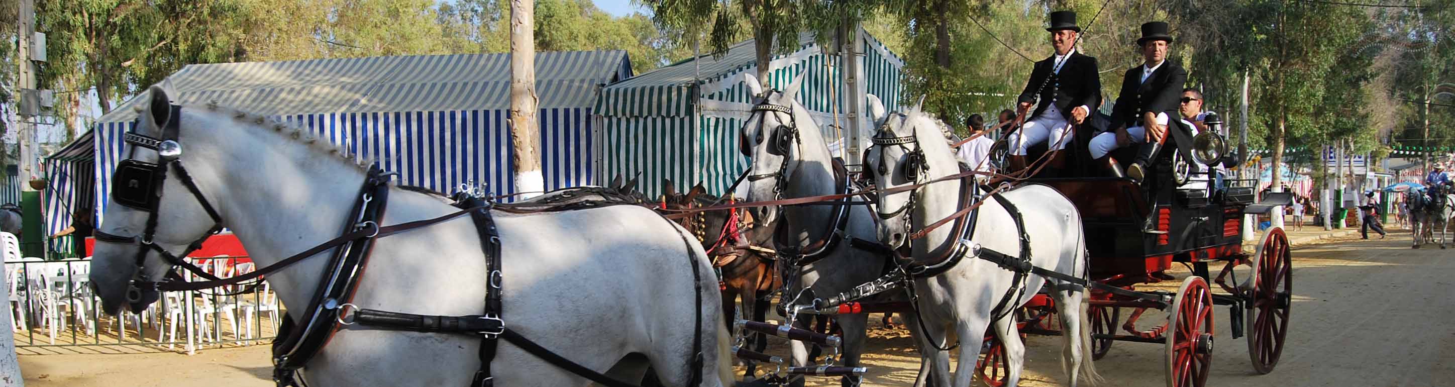
<svg viewBox="0 0 1455 387">
<path fill-rule="evenodd" d="M 1097 76 L 1096 57 L 1081 55 L 1080 51 L 1071 52 L 1071 58 L 1061 65 L 1061 71 L 1052 74 L 1051 68 L 1056 65 L 1055 61 L 1056 55 L 1037 61 L 1030 71 L 1026 90 L 1020 93 L 1018 100 L 1027 103 L 1035 102 L 1037 95 L 1040 96 L 1040 102 L 1036 103 L 1036 111 L 1030 116 L 1046 111 L 1052 99 L 1056 100 L 1056 109 L 1067 119 L 1071 119 L 1071 109 L 1075 106 L 1085 105 L 1093 112 L 1101 106 L 1101 79 Z M 1051 80 L 1048 81 L 1046 77 Z"/>
</svg>

